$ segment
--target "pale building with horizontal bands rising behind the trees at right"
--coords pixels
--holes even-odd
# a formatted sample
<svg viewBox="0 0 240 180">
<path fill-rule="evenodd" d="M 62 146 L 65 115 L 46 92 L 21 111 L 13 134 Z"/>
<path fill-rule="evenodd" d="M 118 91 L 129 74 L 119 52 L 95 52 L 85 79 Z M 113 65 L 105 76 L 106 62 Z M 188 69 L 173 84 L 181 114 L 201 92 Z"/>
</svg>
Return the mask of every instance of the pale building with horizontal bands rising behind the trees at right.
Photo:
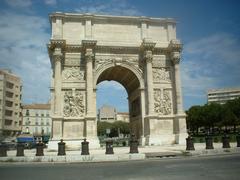
<svg viewBox="0 0 240 180">
<path fill-rule="evenodd" d="M 240 88 L 212 89 L 207 94 L 208 103 L 224 104 L 240 97 Z"/>
</svg>

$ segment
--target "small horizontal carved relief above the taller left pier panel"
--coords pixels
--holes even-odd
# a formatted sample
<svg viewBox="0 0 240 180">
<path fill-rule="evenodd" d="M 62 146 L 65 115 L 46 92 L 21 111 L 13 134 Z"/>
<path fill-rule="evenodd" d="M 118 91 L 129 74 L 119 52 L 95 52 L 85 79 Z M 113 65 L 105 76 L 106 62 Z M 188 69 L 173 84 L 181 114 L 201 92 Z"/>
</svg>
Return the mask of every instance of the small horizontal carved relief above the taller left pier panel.
<svg viewBox="0 0 240 180">
<path fill-rule="evenodd" d="M 79 67 L 64 68 L 63 80 L 84 80 L 84 72 Z"/>
</svg>

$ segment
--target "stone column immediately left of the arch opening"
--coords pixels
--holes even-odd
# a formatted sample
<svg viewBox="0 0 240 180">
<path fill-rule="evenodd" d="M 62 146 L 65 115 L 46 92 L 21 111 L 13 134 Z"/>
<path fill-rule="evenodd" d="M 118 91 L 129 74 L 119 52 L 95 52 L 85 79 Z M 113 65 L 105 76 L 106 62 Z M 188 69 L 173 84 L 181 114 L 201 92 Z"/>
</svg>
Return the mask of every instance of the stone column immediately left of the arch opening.
<svg viewBox="0 0 240 180">
<path fill-rule="evenodd" d="M 86 58 L 86 90 L 87 90 L 87 116 L 91 117 L 93 116 L 93 52 L 92 49 L 86 49 L 85 53 L 85 58 Z"/>
</svg>

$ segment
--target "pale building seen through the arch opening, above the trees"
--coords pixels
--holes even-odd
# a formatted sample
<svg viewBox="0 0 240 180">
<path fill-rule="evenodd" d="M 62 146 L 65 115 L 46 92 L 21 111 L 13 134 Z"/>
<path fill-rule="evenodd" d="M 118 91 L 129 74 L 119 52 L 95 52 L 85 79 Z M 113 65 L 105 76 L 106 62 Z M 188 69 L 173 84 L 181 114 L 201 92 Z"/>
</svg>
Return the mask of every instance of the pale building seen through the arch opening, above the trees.
<svg viewBox="0 0 240 180">
<path fill-rule="evenodd" d="M 104 105 L 98 110 L 98 121 L 110 123 L 115 121 L 129 122 L 129 113 L 117 112 L 116 108 Z"/>
</svg>

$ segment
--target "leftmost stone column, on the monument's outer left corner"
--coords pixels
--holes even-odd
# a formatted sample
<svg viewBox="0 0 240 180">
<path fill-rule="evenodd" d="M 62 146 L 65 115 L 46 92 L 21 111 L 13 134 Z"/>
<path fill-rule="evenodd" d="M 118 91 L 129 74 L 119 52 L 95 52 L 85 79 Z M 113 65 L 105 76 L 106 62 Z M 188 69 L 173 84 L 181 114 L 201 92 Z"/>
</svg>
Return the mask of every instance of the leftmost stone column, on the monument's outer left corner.
<svg viewBox="0 0 240 180">
<path fill-rule="evenodd" d="M 62 51 L 55 48 L 53 52 L 54 61 L 54 114 L 61 115 L 61 87 L 62 87 Z"/>
</svg>

